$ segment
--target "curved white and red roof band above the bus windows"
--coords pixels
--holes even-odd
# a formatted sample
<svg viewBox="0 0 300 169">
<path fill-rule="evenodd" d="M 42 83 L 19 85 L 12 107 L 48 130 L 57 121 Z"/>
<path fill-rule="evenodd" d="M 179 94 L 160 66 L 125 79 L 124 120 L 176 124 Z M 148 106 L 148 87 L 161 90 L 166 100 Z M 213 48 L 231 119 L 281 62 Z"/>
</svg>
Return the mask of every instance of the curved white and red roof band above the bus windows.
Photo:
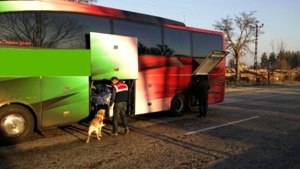
<svg viewBox="0 0 300 169">
<path fill-rule="evenodd" d="M 35 7 L 35 8 L 33 8 Z M 38 9 L 39 8 L 39 9 Z M 73 2 L 68 0 L 6 0 L 0 1 L 0 12 L 5 11 L 25 11 L 25 10 L 48 10 L 48 11 L 68 11 L 82 12 L 99 16 L 109 16 L 152 24 L 170 24 L 185 26 L 184 23 L 152 16 L 137 12 L 120 10 L 110 7 L 91 5 L 86 3 Z"/>
</svg>

